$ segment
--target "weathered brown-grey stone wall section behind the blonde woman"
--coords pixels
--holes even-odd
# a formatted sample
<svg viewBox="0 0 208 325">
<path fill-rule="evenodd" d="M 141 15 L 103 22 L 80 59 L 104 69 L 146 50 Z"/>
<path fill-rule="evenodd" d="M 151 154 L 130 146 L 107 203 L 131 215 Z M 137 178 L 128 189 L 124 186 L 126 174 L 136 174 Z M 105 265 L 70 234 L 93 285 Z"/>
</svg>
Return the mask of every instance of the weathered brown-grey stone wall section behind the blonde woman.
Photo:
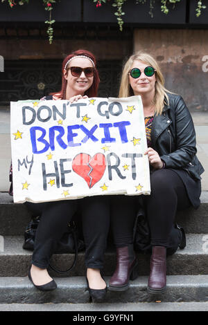
<svg viewBox="0 0 208 325">
<path fill-rule="evenodd" d="M 180 93 L 190 111 L 208 111 L 208 30 L 136 29 L 134 50 L 158 60 L 166 88 Z"/>
</svg>

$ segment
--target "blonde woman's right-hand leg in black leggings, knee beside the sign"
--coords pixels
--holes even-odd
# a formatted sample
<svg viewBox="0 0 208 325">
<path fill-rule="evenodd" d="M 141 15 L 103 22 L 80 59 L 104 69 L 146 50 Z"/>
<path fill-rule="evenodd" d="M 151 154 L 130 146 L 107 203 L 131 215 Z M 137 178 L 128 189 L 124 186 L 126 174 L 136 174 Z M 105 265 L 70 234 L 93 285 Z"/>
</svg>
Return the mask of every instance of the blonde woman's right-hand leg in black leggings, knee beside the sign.
<svg viewBox="0 0 208 325">
<path fill-rule="evenodd" d="M 151 244 L 166 246 L 177 210 L 191 205 L 180 176 L 170 169 L 158 169 L 150 176 L 151 194 L 144 196 Z"/>
</svg>

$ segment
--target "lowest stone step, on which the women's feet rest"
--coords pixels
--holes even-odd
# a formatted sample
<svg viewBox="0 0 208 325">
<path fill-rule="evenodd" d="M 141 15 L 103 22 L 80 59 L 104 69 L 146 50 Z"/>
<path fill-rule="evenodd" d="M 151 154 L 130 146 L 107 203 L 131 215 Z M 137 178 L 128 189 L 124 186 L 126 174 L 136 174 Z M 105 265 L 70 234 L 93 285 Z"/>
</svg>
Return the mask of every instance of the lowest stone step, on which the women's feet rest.
<svg viewBox="0 0 208 325">
<path fill-rule="evenodd" d="M 109 277 L 105 277 L 109 281 Z M 88 304 L 89 293 L 85 277 L 55 278 L 56 290 L 43 293 L 37 290 L 28 277 L 0 277 L 0 304 Z M 169 275 L 164 294 L 150 295 L 146 291 L 148 277 L 130 281 L 125 292 L 108 290 L 106 303 L 137 302 L 189 302 L 208 300 L 208 275 Z M 1 306 L 1 305 L 0 305 Z"/>
</svg>

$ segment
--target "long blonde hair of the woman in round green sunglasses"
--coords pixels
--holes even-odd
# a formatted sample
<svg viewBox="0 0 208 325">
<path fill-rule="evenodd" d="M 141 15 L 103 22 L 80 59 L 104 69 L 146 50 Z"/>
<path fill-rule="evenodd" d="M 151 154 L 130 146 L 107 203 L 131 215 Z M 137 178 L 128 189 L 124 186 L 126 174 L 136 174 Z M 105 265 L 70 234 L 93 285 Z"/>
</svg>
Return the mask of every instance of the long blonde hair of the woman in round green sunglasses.
<svg viewBox="0 0 208 325">
<path fill-rule="evenodd" d="M 130 72 L 130 68 L 135 60 L 141 61 L 148 66 L 153 66 L 156 71 L 156 82 L 155 82 L 155 97 L 153 100 L 153 104 L 155 105 L 155 113 L 156 115 L 162 114 L 162 109 L 164 104 L 169 104 L 167 93 L 171 93 L 164 87 L 164 76 L 162 75 L 162 71 L 157 64 L 157 61 L 148 53 L 144 53 L 139 51 L 134 55 L 131 55 L 128 61 L 125 63 L 123 67 L 123 73 L 121 77 L 121 85 L 119 89 L 119 97 L 130 97 L 134 95 L 132 87 L 130 86 L 128 73 Z"/>
</svg>

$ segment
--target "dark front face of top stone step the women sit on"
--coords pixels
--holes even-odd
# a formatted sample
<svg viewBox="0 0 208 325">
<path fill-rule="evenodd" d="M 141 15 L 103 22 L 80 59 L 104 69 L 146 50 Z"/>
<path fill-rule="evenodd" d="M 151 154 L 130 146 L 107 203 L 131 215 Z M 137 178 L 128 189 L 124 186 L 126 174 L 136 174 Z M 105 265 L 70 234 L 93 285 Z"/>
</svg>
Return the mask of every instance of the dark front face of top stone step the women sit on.
<svg viewBox="0 0 208 325">
<path fill-rule="evenodd" d="M 176 221 L 187 233 L 208 233 L 208 192 L 202 192 L 200 207 L 177 212 Z M 13 203 L 12 196 L 0 193 L 0 235 L 22 235 L 31 216 L 24 204 Z"/>
</svg>

